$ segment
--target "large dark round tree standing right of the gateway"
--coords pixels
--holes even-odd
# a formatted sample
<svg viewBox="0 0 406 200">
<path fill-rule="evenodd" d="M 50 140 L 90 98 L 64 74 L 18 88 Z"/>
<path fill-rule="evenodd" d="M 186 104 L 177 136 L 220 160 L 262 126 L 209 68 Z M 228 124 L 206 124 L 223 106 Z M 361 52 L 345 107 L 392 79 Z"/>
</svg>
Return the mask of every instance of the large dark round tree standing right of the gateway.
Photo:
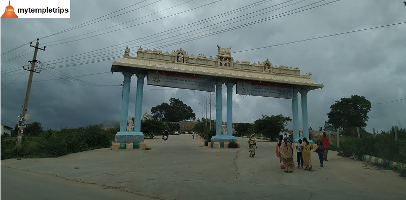
<svg viewBox="0 0 406 200">
<path fill-rule="evenodd" d="M 334 129 L 347 127 L 366 127 L 368 112 L 371 110 L 371 103 L 364 96 L 351 95 L 351 98 L 341 98 L 330 106 L 331 111 L 327 113 L 328 124 Z"/>
</svg>

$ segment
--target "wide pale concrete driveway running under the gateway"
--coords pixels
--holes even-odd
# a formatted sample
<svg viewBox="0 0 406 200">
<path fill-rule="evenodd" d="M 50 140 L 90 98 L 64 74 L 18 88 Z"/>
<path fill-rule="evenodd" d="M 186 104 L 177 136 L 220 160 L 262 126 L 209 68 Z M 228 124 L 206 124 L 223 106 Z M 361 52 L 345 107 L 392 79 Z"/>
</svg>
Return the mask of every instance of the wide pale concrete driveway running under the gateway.
<svg viewBox="0 0 406 200">
<path fill-rule="evenodd" d="M 238 141 L 239 149 L 213 149 L 204 147 L 203 140 L 192 140 L 191 134 L 175 135 L 165 142 L 146 140 L 151 150 L 105 148 L 58 158 L 9 159 L 1 165 L 155 199 L 406 198 L 406 179 L 390 170 L 329 151 L 323 168 L 284 173 L 275 142 L 257 140 L 256 155 L 250 158 L 248 139 Z M 318 166 L 316 153 L 312 163 Z"/>
</svg>

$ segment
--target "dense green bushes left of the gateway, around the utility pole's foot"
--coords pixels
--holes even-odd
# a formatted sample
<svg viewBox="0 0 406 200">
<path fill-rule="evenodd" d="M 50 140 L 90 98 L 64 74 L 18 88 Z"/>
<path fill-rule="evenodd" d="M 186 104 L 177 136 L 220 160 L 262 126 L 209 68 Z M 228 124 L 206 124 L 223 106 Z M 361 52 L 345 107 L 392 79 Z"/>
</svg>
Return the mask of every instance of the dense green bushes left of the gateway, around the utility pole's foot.
<svg viewBox="0 0 406 200">
<path fill-rule="evenodd" d="M 2 137 L 1 159 L 58 157 L 69 153 L 110 147 L 119 126 L 103 129 L 101 125 L 84 128 L 43 131 L 39 136 L 24 135 L 20 147 Z"/>
</svg>

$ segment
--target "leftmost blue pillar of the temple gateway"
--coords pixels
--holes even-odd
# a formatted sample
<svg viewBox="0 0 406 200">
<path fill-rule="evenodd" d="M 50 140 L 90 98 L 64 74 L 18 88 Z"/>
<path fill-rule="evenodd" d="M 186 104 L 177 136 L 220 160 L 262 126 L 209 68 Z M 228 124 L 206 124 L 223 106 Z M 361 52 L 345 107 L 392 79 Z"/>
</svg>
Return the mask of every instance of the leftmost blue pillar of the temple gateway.
<svg viewBox="0 0 406 200">
<path fill-rule="evenodd" d="M 121 100 L 120 132 L 127 131 L 128 99 L 130 95 L 130 84 L 132 73 L 124 72 L 123 94 Z"/>
</svg>

